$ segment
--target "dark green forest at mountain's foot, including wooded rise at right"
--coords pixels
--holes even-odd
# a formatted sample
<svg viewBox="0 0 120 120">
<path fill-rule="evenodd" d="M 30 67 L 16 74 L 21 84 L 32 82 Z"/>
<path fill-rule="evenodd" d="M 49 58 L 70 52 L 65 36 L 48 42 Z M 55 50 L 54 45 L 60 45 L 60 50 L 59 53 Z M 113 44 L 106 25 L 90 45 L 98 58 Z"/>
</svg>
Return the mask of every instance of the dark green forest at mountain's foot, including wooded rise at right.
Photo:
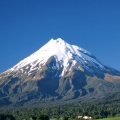
<svg viewBox="0 0 120 120">
<path fill-rule="evenodd" d="M 120 92 L 90 103 L 76 102 L 53 107 L 19 108 L 1 111 L 0 117 L 5 115 L 7 115 L 7 120 L 8 118 L 9 120 L 77 119 L 77 116 L 80 115 L 92 116 L 94 119 L 116 117 L 120 116 Z"/>
</svg>

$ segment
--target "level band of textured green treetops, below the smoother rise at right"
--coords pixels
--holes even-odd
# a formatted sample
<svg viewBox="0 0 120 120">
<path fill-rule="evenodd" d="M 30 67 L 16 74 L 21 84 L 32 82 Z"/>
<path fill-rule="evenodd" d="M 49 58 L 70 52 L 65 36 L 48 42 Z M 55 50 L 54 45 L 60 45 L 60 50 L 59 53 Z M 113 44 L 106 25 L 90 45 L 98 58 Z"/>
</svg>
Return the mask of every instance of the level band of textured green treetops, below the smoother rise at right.
<svg viewBox="0 0 120 120">
<path fill-rule="evenodd" d="M 32 109 L 20 109 L 8 112 L 12 114 L 16 120 L 29 120 L 34 118 L 35 120 L 43 120 L 41 116 L 47 116 L 47 118 L 67 117 L 75 119 L 77 116 L 87 115 L 92 116 L 95 119 L 120 116 L 120 102 L 112 104 L 102 103 L 84 103 L 76 105 L 56 106 L 50 108 L 32 108 Z"/>
</svg>

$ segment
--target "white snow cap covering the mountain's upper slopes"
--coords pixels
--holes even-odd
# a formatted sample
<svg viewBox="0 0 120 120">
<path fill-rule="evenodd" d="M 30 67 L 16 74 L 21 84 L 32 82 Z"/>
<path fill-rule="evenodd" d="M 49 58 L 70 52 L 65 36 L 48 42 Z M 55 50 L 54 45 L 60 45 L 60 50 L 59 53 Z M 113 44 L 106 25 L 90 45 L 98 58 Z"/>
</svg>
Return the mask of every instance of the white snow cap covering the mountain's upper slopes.
<svg viewBox="0 0 120 120">
<path fill-rule="evenodd" d="M 70 45 L 61 38 L 58 38 L 56 40 L 51 39 L 38 51 L 20 61 L 17 65 L 13 66 L 6 72 L 18 70 L 23 71 L 23 67 L 28 69 L 28 65 L 30 66 L 29 72 L 32 70 L 38 70 L 47 62 L 51 56 L 54 56 L 56 61 L 58 61 L 61 67 L 63 67 L 62 75 L 64 75 L 64 71 L 68 67 L 69 62 L 72 63 L 72 66 L 78 62 L 83 66 L 83 68 L 89 71 L 92 70 L 88 68 L 88 65 L 92 65 L 104 71 L 106 70 L 104 65 L 102 65 L 90 52 L 78 46 Z M 56 64 L 56 67 L 59 67 L 59 65 Z"/>
</svg>

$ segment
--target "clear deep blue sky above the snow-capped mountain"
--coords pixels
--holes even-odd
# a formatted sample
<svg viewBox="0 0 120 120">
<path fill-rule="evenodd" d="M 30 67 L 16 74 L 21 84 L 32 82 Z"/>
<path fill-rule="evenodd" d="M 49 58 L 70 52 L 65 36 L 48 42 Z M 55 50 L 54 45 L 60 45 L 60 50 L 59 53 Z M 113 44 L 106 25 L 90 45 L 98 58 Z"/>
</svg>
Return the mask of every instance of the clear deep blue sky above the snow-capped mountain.
<svg viewBox="0 0 120 120">
<path fill-rule="evenodd" d="M 120 0 L 0 0 L 0 72 L 51 38 L 120 70 Z"/>
</svg>

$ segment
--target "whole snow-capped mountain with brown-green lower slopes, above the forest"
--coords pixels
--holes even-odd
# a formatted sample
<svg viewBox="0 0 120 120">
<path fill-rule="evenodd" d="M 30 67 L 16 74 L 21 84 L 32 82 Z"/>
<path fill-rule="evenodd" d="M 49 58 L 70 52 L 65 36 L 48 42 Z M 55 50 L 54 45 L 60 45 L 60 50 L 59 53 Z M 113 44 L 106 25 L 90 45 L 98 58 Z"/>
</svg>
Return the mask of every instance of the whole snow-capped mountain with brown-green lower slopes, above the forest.
<svg viewBox="0 0 120 120">
<path fill-rule="evenodd" d="M 119 71 L 60 38 L 0 74 L 0 97 L 6 103 L 99 98 L 119 90 Z"/>
</svg>

